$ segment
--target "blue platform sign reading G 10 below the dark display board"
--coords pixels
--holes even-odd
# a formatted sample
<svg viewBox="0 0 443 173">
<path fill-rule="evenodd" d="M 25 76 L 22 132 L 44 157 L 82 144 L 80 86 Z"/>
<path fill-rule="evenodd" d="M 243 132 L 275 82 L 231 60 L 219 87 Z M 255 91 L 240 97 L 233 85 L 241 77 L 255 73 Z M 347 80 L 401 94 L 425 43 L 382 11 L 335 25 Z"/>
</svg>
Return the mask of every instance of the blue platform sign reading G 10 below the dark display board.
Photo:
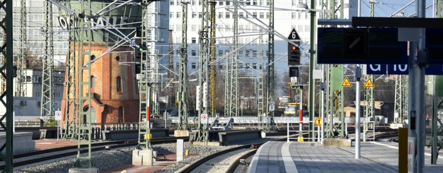
<svg viewBox="0 0 443 173">
<path fill-rule="evenodd" d="M 368 64 L 368 75 L 409 75 L 408 64 Z M 425 75 L 443 75 L 443 65 L 429 65 L 424 70 Z"/>
</svg>

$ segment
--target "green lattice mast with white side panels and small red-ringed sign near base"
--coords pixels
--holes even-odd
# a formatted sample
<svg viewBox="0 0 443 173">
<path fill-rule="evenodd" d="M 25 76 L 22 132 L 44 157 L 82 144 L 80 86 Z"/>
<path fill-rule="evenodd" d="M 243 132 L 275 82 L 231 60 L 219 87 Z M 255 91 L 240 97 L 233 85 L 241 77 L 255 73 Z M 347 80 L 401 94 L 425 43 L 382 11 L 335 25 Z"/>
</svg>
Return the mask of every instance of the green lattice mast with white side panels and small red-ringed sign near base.
<svg viewBox="0 0 443 173">
<path fill-rule="evenodd" d="M 207 98 L 208 98 L 208 61 L 209 61 L 209 40 L 208 40 L 208 36 L 209 36 L 209 27 L 210 27 L 210 23 L 209 23 L 209 0 L 202 0 L 202 25 L 199 31 L 199 43 L 200 43 L 200 57 L 199 57 L 199 71 L 198 71 L 198 75 L 199 75 L 199 80 L 198 80 L 198 85 L 203 89 L 202 90 L 202 102 L 200 102 L 199 100 L 197 101 L 197 108 L 198 109 L 198 138 L 197 141 L 203 141 L 208 139 L 208 134 L 209 132 L 207 131 L 207 123 L 204 125 L 201 123 L 201 116 L 202 114 L 207 114 L 208 113 L 208 102 L 207 102 Z M 198 91 L 197 91 L 198 93 Z M 197 96 L 199 97 L 199 96 Z M 203 129 L 206 128 L 206 132 L 203 132 Z"/>
</svg>

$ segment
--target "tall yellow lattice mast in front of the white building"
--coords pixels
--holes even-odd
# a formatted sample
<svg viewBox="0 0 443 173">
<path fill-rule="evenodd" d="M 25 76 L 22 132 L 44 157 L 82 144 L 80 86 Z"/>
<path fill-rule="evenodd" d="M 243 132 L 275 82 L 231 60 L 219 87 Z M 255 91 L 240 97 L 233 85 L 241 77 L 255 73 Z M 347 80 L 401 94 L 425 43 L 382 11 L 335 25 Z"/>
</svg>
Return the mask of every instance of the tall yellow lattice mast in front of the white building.
<svg viewBox="0 0 443 173">
<path fill-rule="evenodd" d="M 210 49 L 210 63 L 213 63 L 216 60 L 216 47 L 215 43 L 215 2 L 210 2 L 210 14 L 209 14 L 209 21 L 210 21 L 210 32 L 211 32 L 211 41 L 209 42 L 209 49 Z M 208 116 L 214 116 L 215 113 L 215 102 L 216 102 L 216 89 L 217 89 L 217 69 L 215 64 L 208 66 L 209 71 L 209 113 Z"/>
</svg>

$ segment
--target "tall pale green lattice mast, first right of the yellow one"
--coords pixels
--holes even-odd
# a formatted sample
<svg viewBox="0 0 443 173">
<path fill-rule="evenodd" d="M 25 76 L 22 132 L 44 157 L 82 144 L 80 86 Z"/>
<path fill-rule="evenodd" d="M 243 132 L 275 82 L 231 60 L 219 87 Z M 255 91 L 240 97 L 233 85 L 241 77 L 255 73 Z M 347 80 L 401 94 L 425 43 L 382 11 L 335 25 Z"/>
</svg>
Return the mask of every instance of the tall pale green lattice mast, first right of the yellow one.
<svg viewBox="0 0 443 173">
<path fill-rule="evenodd" d="M 234 3 L 234 5 L 238 5 L 237 2 Z M 237 13 L 238 9 L 234 8 L 234 12 Z M 233 44 L 232 49 L 235 50 L 238 47 L 238 16 L 233 15 L 234 18 L 234 26 L 233 26 Z M 232 62 L 231 62 L 231 69 L 229 69 L 231 72 L 229 73 L 229 79 L 230 82 L 230 88 L 229 88 L 229 117 L 237 117 L 238 116 L 238 54 L 237 52 L 234 52 L 232 56 Z"/>
</svg>

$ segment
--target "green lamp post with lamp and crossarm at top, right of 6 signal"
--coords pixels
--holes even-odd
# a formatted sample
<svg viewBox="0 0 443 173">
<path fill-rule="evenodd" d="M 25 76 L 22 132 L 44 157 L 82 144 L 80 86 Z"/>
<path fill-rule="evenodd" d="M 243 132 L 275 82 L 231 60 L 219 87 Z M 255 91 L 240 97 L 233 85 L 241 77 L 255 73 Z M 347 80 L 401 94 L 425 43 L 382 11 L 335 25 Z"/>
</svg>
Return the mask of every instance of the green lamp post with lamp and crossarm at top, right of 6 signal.
<svg viewBox="0 0 443 173">
<path fill-rule="evenodd" d="M 309 140 L 314 141 L 314 116 L 315 116 L 315 81 L 314 76 L 312 72 L 315 68 L 315 19 L 316 19 L 316 13 L 322 12 L 325 14 L 326 12 L 333 12 L 331 9 L 315 9 L 315 2 L 316 0 L 311 0 L 311 8 L 308 8 L 307 4 L 300 3 L 296 7 L 297 8 L 305 8 L 308 12 L 311 13 L 311 40 L 309 41 L 310 48 L 309 48 Z M 350 4 L 343 4 L 343 8 L 350 8 Z M 322 101 L 323 102 L 323 101 Z M 322 115 L 323 117 L 323 115 Z M 324 122 L 324 121 L 323 121 Z"/>
</svg>

